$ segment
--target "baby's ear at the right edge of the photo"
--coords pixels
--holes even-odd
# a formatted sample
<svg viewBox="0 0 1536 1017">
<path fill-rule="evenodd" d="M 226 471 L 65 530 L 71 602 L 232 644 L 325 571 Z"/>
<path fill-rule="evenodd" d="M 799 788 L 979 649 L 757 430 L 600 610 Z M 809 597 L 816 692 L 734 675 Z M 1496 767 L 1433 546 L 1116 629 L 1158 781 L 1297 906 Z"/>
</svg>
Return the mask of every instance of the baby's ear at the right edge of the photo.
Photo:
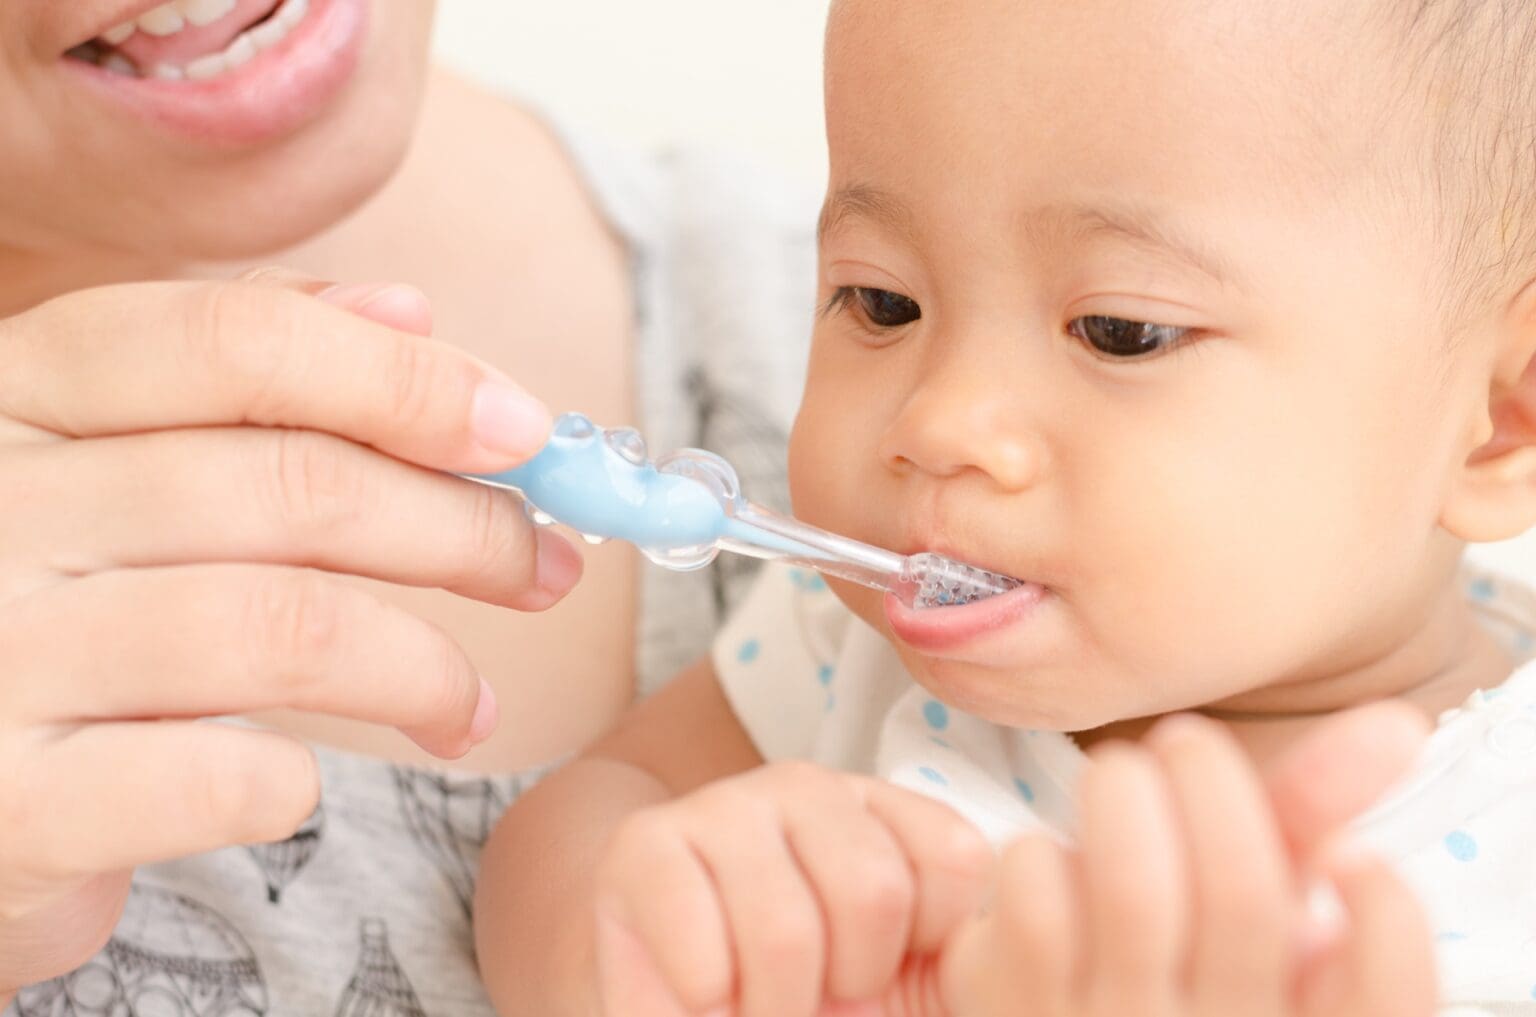
<svg viewBox="0 0 1536 1017">
<path fill-rule="evenodd" d="M 1470 542 L 1507 541 L 1536 525 L 1536 281 L 1498 329 L 1487 416 L 1441 512 L 1441 525 Z"/>
</svg>

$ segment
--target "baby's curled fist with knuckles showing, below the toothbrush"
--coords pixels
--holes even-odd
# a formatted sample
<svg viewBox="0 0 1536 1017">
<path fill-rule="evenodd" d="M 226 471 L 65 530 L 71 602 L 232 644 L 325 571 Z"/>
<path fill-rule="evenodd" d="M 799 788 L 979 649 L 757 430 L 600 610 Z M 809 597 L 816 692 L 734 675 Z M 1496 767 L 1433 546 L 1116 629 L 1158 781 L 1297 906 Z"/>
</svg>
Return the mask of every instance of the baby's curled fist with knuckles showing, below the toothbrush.
<svg viewBox="0 0 1536 1017">
<path fill-rule="evenodd" d="M 948 807 L 808 764 L 636 813 L 598 870 L 602 1014 L 885 1012 L 849 1002 L 932 957 L 992 865 Z"/>
</svg>

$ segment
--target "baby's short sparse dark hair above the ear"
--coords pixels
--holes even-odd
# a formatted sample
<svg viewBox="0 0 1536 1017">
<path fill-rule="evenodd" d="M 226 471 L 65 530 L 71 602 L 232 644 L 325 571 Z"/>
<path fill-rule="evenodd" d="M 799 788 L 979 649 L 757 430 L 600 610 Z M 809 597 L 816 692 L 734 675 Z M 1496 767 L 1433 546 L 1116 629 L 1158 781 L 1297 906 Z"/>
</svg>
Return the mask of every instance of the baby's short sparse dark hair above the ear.
<svg viewBox="0 0 1536 1017">
<path fill-rule="evenodd" d="M 1536 273 L 1536 0 L 1382 0 L 1399 114 L 1433 200 L 1445 326 Z M 1407 167 L 1405 167 L 1407 169 Z"/>
</svg>

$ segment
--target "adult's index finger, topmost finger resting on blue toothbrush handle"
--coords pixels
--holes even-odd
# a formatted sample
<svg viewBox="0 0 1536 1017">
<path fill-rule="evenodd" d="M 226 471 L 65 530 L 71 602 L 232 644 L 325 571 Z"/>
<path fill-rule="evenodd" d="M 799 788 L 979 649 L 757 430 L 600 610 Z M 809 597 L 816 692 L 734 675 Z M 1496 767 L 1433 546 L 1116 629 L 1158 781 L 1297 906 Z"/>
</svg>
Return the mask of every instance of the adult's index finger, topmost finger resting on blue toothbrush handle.
<svg viewBox="0 0 1536 1017">
<path fill-rule="evenodd" d="M 505 375 L 306 286 L 140 283 L 45 303 L 0 321 L 0 404 L 77 438 L 261 424 L 473 473 L 542 447 L 548 410 Z"/>
</svg>

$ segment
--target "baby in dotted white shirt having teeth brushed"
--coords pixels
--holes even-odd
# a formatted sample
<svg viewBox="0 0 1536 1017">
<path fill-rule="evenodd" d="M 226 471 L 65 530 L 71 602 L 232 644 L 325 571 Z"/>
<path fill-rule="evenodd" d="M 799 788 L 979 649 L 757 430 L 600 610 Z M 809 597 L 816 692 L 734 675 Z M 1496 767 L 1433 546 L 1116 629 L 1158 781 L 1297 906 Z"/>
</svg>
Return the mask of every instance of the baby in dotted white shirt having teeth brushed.
<svg viewBox="0 0 1536 1017">
<path fill-rule="evenodd" d="M 1507 0 L 834 3 L 796 515 L 1025 585 L 766 571 L 493 837 L 499 1009 L 1536 1012 L 1530 611 L 1461 571 L 1536 522 L 1533 41 Z"/>
</svg>

